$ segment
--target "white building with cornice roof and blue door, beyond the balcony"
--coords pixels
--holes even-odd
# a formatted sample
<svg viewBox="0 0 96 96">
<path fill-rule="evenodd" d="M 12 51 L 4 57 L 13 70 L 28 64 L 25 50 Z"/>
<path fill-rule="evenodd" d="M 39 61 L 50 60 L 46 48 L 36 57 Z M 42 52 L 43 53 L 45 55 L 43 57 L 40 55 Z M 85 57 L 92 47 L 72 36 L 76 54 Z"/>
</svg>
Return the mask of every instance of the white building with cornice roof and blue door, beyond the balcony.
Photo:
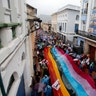
<svg viewBox="0 0 96 96">
<path fill-rule="evenodd" d="M 73 41 L 73 35 L 78 31 L 80 8 L 66 5 L 57 12 L 57 31 Z"/>
</svg>

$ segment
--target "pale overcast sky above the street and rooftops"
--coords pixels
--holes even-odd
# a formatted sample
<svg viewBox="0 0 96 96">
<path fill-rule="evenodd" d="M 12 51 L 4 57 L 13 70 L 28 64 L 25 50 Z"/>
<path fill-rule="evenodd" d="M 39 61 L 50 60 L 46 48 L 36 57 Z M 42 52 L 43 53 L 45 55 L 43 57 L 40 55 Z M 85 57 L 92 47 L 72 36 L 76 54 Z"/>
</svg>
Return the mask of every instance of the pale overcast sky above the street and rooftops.
<svg viewBox="0 0 96 96">
<path fill-rule="evenodd" d="M 28 4 L 37 8 L 37 14 L 51 15 L 67 4 L 80 6 L 80 0 L 26 0 Z"/>
</svg>

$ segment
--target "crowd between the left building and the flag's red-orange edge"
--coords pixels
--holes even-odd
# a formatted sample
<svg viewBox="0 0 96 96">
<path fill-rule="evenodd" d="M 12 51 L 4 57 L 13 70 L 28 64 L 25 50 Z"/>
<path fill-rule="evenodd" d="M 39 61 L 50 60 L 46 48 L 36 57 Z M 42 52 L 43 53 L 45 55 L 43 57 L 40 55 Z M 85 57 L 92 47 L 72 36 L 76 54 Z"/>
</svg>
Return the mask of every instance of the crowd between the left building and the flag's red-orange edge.
<svg viewBox="0 0 96 96">
<path fill-rule="evenodd" d="M 48 33 L 42 32 L 36 38 L 31 96 L 53 96 L 47 61 L 43 54 L 44 47 L 49 44 Z"/>
</svg>

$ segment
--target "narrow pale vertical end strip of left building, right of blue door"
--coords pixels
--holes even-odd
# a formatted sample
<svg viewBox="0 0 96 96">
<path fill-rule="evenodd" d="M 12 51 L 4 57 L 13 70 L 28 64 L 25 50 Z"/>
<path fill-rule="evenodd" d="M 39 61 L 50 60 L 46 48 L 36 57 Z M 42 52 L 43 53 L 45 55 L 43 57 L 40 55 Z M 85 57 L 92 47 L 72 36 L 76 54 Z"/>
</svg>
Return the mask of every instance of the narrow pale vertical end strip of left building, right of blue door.
<svg viewBox="0 0 96 96">
<path fill-rule="evenodd" d="M 26 48 L 26 65 L 24 68 L 24 81 L 25 81 L 25 91 L 26 91 L 26 96 L 29 96 L 30 93 L 30 85 L 32 81 L 32 74 L 31 74 L 31 60 L 30 60 L 30 50 L 29 50 L 29 37 L 26 37 L 25 41 L 25 48 Z"/>
</svg>

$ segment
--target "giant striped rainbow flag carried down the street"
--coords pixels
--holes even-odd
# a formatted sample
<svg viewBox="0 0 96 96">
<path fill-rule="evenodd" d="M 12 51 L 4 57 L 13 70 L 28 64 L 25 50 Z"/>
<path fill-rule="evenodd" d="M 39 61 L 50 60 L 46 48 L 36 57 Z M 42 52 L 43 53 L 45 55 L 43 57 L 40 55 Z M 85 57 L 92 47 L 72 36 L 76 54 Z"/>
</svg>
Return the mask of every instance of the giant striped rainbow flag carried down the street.
<svg viewBox="0 0 96 96">
<path fill-rule="evenodd" d="M 52 85 L 59 81 L 58 90 L 53 87 L 54 96 L 96 96 L 94 80 L 82 72 L 73 59 L 58 47 L 46 47 L 45 59 Z"/>
</svg>

